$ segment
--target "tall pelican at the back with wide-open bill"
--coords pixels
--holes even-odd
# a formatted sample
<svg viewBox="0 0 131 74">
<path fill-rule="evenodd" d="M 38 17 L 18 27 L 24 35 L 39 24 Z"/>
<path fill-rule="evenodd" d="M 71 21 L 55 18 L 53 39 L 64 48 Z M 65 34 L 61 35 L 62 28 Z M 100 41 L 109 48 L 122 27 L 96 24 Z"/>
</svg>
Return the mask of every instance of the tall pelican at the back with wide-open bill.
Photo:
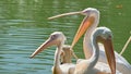
<svg viewBox="0 0 131 74">
<path fill-rule="evenodd" d="M 48 20 L 61 17 L 61 16 L 66 16 L 66 15 L 73 15 L 73 14 L 82 14 L 82 15 L 85 15 L 85 17 L 82 21 L 82 23 L 76 32 L 76 35 L 74 36 L 74 39 L 72 41 L 72 47 L 78 42 L 78 40 L 86 32 L 85 36 L 84 36 L 84 40 L 83 40 L 83 51 L 85 54 L 85 59 L 90 59 L 93 53 L 93 51 L 91 50 L 92 47 L 91 47 L 90 38 L 91 38 L 91 34 L 93 33 L 93 30 L 97 27 L 97 25 L 99 23 L 99 11 L 94 8 L 87 8 L 85 10 L 79 11 L 79 12 L 70 12 L 70 13 L 59 14 L 59 15 L 49 17 Z M 105 55 L 104 49 L 102 49 L 102 47 L 99 50 L 98 61 L 106 63 L 106 55 Z M 117 53 L 116 51 L 115 51 L 115 55 L 116 55 L 117 70 L 122 72 L 123 74 L 130 74 L 131 73 L 130 63 L 122 55 Z"/>
</svg>

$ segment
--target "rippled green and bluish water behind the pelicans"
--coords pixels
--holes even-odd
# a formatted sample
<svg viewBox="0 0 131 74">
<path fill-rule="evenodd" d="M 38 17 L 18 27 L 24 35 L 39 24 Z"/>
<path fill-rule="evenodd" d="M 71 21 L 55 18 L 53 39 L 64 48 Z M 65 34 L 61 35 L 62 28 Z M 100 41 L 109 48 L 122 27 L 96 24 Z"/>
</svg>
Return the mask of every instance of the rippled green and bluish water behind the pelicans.
<svg viewBox="0 0 131 74">
<path fill-rule="evenodd" d="M 92 7 L 100 11 L 99 26 L 107 26 L 114 33 L 115 50 L 120 52 L 131 35 L 131 1 L 119 0 L 1 0 L 0 1 L 0 74 L 51 74 L 55 47 L 35 59 L 32 52 L 52 32 L 63 32 L 71 44 L 83 18 L 82 15 L 66 16 L 52 21 L 47 17 Z M 74 47 L 83 58 L 82 38 Z M 123 57 L 131 63 L 131 46 Z"/>
</svg>

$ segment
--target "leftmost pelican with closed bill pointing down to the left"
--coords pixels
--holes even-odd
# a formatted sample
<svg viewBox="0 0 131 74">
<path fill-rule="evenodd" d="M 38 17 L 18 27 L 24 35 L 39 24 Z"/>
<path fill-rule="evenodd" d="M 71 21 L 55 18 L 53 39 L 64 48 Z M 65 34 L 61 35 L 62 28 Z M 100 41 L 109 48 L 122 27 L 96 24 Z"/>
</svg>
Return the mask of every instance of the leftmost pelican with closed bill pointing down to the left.
<svg viewBox="0 0 131 74">
<path fill-rule="evenodd" d="M 37 53 L 39 53 L 47 47 L 57 46 L 53 66 L 52 66 L 52 74 L 69 74 L 70 69 L 74 67 L 75 64 L 72 63 L 60 64 L 60 54 L 62 52 L 62 48 L 64 48 L 63 47 L 64 41 L 66 41 L 66 36 L 61 32 L 55 32 L 40 47 L 38 47 L 38 49 L 31 55 L 31 58 L 34 58 Z"/>
</svg>

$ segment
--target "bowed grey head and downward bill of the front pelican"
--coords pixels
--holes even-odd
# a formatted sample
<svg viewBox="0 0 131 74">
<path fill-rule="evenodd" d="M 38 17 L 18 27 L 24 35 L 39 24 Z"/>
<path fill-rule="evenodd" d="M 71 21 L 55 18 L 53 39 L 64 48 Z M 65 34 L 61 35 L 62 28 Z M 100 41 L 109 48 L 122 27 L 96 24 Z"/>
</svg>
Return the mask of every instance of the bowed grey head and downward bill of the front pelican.
<svg viewBox="0 0 131 74">
<path fill-rule="evenodd" d="M 111 73 L 116 74 L 116 59 L 111 40 L 112 39 L 111 30 L 107 27 L 98 27 L 93 32 L 91 38 L 94 37 L 96 37 L 97 42 L 104 44 L 107 61 L 110 66 Z"/>
</svg>

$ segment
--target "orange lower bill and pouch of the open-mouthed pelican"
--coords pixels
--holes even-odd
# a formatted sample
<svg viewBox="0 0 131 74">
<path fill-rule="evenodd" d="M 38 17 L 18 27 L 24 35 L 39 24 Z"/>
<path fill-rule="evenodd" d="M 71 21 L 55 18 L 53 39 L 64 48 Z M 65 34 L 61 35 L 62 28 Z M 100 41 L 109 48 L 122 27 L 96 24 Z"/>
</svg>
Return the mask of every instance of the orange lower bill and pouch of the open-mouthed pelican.
<svg viewBox="0 0 131 74">
<path fill-rule="evenodd" d="M 81 23 L 74 39 L 72 41 L 72 47 L 78 42 L 78 40 L 82 37 L 85 30 L 94 23 L 95 18 L 93 16 L 86 16 L 83 22 Z"/>
</svg>

